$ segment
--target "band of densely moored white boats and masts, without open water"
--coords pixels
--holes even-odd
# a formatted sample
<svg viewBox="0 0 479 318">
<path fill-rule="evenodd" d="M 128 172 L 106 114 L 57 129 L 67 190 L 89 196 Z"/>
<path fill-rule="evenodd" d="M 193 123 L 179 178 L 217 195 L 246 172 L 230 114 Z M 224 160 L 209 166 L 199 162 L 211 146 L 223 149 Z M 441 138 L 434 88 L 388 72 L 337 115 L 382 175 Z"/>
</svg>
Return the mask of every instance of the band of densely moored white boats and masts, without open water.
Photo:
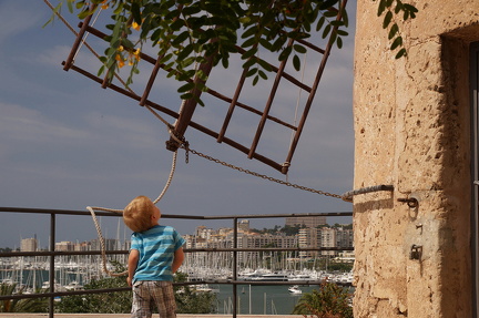
<svg viewBox="0 0 479 318">
<path fill-rule="evenodd" d="M 120 261 L 120 264 L 122 264 Z M 59 259 L 54 265 L 55 289 L 78 290 L 91 279 L 108 277 L 102 271 L 101 261 L 98 257 L 70 257 Z M 109 265 L 109 269 L 113 270 Z M 47 259 L 31 259 L 30 257 L 12 257 L 8 261 L 0 263 L 0 283 L 26 285 L 31 289 L 49 288 L 49 261 Z M 187 274 L 190 281 L 202 280 L 232 280 L 232 271 L 228 268 L 211 268 L 198 266 L 185 266 L 181 271 Z M 249 269 L 238 271 L 237 280 L 243 281 L 310 281 L 323 280 L 350 286 L 353 273 L 328 273 L 325 270 L 271 270 L 267 268 Z"/>
</svg>

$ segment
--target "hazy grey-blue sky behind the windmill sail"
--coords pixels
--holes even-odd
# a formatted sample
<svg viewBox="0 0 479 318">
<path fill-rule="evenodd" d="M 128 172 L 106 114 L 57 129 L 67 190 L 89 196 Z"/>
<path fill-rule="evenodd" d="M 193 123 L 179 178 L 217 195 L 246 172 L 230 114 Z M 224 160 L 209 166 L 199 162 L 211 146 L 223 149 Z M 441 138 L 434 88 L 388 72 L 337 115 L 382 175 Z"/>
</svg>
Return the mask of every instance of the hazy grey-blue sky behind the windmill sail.
<svg viewBox="0 0 479 318">
<path fill-rule="evenodd" d="M 55 1 L 52 1 L 55 4 Z M 228 164 L 318 191 L 343 194 L 353 186 L 353 53 L 355 9 L 349 6 L 349 37 L 343 49 L 334 49 L 326 65 L 305 131 L 287 176 L 242 152 L 216 143 L 193 129 L 185 133 L 191 148 Z M 40 0 L 0 0 L 0 206 L 86 211 L 86 206 L 123 208 L 137 195 L 156 198 L 167 182 L 173 153 L 165 148 L 165 125 L 137 102 L 70 70 L 63 71 L 74 34 L 60 21 L 43 27 L 51 17 Z M 79 20 L 67 10 L 63 17 L 78 31 Z M 100 16 L 98 28 L 104 16 Z M 86 38 L 100 54 L 104 44 Z M 145 52 L 147 48 L 144 48 Z M 265 59 L 272 59 L 263 53 Z M 303 59 L 303 58 L 302 58 Z M 304 71 L 309 80 L 318 59 L 308 53 Z M 95 58 L 82 47 L 75 65 L 96 73 Z M 132 89 L 141 94 L 149 66 L 134 78 Z M 289 70 L 291 71 L 291 70 Z M 228 70 L 214 69 L 208 85 L 232 95 L 241 73 L 233 60 Z M 124 79 L 128 74 L 122 74 Z M 251 83 L 249 83 L 251 84 Z M 177 83 L 159 75 L 150 96 L 179 111 Z M 264 105 L 271 82 L 245 88 L 244 102 Z M 272 114 L 293 122 L 297 101 L 305 95 L 281 86 Z M 194 121 L 218 130 L 224 104 L 205 98 Z M 263 103 L 263 104 L 262 104 Z M 165 119 L 173 123 L 171 117 Z M 257 117 L 235 112 L 227 136 L 251 143 Z M 282 162 L 289 132 L 267 124 L 258 152 Z M 248 142 L 249 141 L 249 142 Z M 255 215 L 350 212 L 350 203 L 272 183 L 179 151 L 172 183 L 159 202 L 163 214 Z M 103 236 L 130 235 L 119 217 L 101 217 Z M 350 217 L 328 217 L 329 224 L 350 223 Z M 193 234 L 198 225 L 232 227 L 232 220 L 184 220 L 163 218 L 181 234 Z M 284 218 L 251 219 L 251 227 L 284 226 Z M 49 240 L 48 215 L 1 213 L 0 247 L 19 247 L 21 238 L 37 236 L 40 246 Z M 83 242 L 96 237 L 90 216 L 58 216 L 57 242 Z"/>
</svg>

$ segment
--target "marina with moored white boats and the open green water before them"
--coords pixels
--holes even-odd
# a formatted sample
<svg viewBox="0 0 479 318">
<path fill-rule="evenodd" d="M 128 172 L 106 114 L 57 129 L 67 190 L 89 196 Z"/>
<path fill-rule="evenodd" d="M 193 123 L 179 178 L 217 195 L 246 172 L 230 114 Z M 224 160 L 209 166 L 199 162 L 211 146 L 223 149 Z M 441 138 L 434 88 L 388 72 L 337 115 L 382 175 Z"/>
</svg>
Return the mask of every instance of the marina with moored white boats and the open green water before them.
<svg viewBox="0 0 479 318">
<path fill-rule="evenodd" d="M 195 281 L 231 281 L 234 280 L 227 268 L 184 267 L 188 280 Z M 59 257 L 54 265 L 54 290 L 82 290 L 92 279 L 108 278 L 101 270 L 98 257 Z M 215 295 L 214 312 L 231 315 L 233 312 L 233 295 L 236 294 L 236 308 L 243 315 L 289 315 L 300 297 L 318 288 L 322 281 L 336 283 L 349 293 L 351 273 L 327 273 L 317 270 L 271 270 L 267 268 L 243 268 L 238 271 L 236 285 L 231 284 L 196 284 L 194 293 L 212 293 Z M 50 270 L 48 259 L 41 257 L 11 257 L 0 263 L 0 283 L 16 284 L 23 288 L 23 294 L 44 293 L 50 288 Z M 243 284 L 243 283 L 244 284 Z M 267 283 L 275 283 L 267 285 Z M 257 285 L 258 283 L 264 283 Z M 285 285 L 279 285 L 285 283 Z M 293 284 L 295 283 L 295 284 Z M 236 293 L 234 289 L 236 288 Z M 55 299 L 61 301 L 60 298 Z"/>
</svg>

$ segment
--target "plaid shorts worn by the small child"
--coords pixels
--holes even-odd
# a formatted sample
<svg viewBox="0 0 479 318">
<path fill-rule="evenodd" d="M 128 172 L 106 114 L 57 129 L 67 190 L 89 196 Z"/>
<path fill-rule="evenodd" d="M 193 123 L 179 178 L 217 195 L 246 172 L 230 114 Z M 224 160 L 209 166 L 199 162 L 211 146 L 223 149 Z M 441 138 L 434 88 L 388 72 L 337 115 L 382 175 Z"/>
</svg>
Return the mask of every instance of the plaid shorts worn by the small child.
<svg viewBox="0 0 479 318">
<path fill-rule="evenodd" d="M 133 284 L 132 318 L 152 317 L 155 304 L 161 318 L 176 318 L 176 302 L 171 281 L 140 280 Z"/>
</svg>

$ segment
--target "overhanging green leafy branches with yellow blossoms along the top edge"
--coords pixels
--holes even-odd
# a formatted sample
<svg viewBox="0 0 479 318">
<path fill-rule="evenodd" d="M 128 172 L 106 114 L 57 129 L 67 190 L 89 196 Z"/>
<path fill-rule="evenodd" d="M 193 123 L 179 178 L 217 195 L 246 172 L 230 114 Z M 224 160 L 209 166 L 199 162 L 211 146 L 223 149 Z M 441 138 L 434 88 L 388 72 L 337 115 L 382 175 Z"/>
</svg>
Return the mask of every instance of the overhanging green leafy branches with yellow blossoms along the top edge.
<svg viewBox="0 0 479 318">
<path fill-rule="evenodd" d="M 131 72 L 126 84 L 131 84 L 139 73 L 143 45 L 149 43 L 169 76 L 182 83 L 177 90 L 181 98 L 200 103 L 197 95 L 206 90 L 208 75 L 200 64 L 221 63 L 227 68 L 231 54 L 240 53 L 246 76 L 256 84 L 272 71 L 259 57 L 262 50 L 277 53 L 279 61 L 293 55 L 293 65 L 299 70 L 299 57 L 307 51 L 300 40 L 318 32 L 342 48 L 343 37 L 348 34 L 348 16 L 342 0 L 61 0 L 54 11 L 64 3 L 80 19 L 100 9 L 112 13 L 111 24 L 106 25 L 111 31 L 106 38 L 109 48 L 101 58 L 99 75 L 106 71 L 111 81 L 128 63 Z M 414 6 L 401 0 L 379 0 L 378 16 L 385 16 L 383 27 L 389 30 L 390 49 L 400 48 L 396 58 L 406 55 L 406 49 L 394 17 L 402 13 L 402 19 L 408 20 L 416 12 Z"/>
</svg>

